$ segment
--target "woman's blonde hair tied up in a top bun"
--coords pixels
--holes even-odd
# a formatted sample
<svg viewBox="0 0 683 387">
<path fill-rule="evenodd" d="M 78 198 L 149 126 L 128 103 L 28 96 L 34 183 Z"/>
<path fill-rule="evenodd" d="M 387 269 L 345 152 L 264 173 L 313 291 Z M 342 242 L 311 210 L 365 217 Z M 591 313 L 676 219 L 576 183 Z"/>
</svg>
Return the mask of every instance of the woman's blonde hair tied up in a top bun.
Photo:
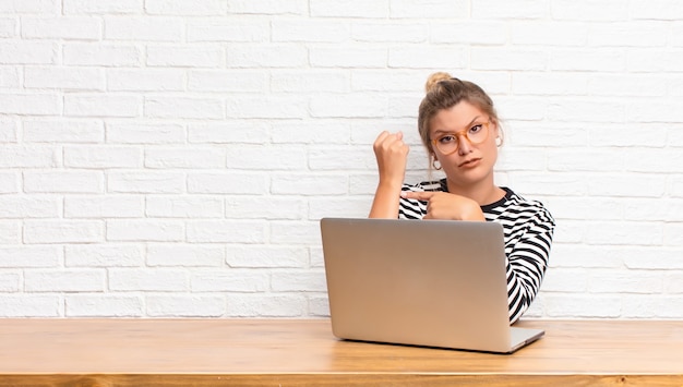
<svg viewBox="0 0 683 387">
<path fill-rule="evenodd" d="M 424 84 L 427 95 L 420 104 L 418 113 L 418 131 L 422 138 L 422 144 L 427 147 L 430 161 L 434 157 L 434 149 L 429 135 L 429 123 L 441 110 L 450 109 L 460 101 L 467 101 L 488 114 L 491 121 L 499 126 L 500 120 L 493 107 L 491 97 L 478 85 L 469 81 L 460 81 L 445 72 L 436 72 L 427 78 Z M 502 140 L 502 131 L 501 140 Z M 431 162 L 430 162 L 431 167 Z"/>
</svg>

